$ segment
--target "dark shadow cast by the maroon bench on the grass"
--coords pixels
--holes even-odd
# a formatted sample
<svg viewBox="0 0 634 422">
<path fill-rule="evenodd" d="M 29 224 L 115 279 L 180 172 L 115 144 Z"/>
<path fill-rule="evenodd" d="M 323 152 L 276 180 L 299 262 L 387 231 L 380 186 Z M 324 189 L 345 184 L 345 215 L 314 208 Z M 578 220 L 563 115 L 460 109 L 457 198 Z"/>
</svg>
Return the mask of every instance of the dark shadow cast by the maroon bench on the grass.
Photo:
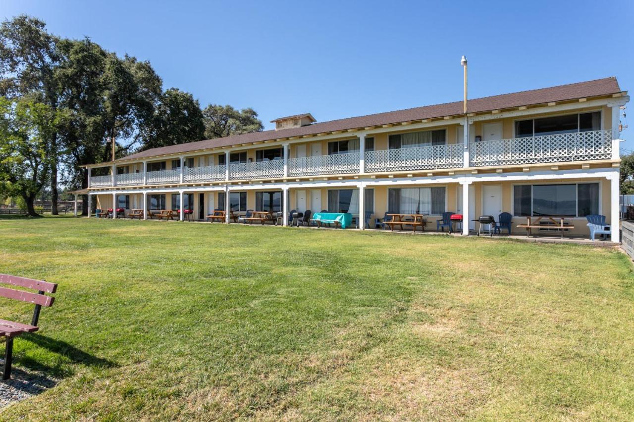
<svg viewBox="0 0 634 422">
<path fill-rule="evenodd" d="M 68 344 L 67 342 L 55 340 L 54 338 L 43 336 L 41 334 L 30 333 L 29 335 L 20 337 L 20 340 L 33 343 L 34 345 L 37 345 L 41 348 L 46 348 L 47 350 L 49 350 L 49 352 L 53 352 L 60 356 L 66 357 L 71 364 L 83 364 L 86 366 L 90 366 L 91 368 L 116 368 L 118 366 L 115 362 L 108 361 L 108 359 L 96 357 L 87 352 L 84 352 L 83 350 L 80 350 L 73 345 Z M 60 361 L 59 364 L 56 364 L 55 366 L 50 366 L 43 362 L 37 361 L 37 359 L 27 356 L 18 357 L 16 361 L 25 368 L 49 373 L 52 376 L 56 376 L 58 378 L 63 378 L 71 374 L 70 370 L 65 369 L 66 362 Z"/>
</svg>

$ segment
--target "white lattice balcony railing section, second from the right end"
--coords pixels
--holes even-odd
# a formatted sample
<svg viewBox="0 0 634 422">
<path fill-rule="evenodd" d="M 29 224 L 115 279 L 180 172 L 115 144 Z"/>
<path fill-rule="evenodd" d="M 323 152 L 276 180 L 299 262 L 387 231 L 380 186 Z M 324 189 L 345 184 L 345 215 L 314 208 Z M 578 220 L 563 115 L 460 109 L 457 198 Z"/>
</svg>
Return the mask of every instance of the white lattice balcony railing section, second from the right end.
<svg viewBox="0 0 634 422">
<path fill-rule="evenodd" d="M 455 169 L 463 165 L 463 144 L 445 144 L 368 151 L 365 153 L 366 172 L 399 170 Z"/>
</svg>

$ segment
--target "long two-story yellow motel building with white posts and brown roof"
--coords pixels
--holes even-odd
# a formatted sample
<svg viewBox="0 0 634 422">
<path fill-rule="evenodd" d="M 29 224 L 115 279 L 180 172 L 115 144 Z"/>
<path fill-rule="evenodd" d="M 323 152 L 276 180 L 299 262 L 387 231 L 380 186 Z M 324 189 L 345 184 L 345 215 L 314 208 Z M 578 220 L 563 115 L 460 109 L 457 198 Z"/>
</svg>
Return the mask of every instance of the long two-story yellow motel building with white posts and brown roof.
<svg viewBox="0 0 634 422">
<path fill-rule="evenodd" d="M 619 221 L 619 107 L 615 77 L 316 122 L 309 113 L 275 130 L 146 150 L 88 165 L 97 208 L 183 209 L 204 221 L 216 208 L 566 215 Z M 102 176 L 98 176 L 98 174 Z M 90 203 L 90 201 L 89 201 Z M 90 212 L 89 212 L 90 214 Z M 359 228 L 366 226 L 359 219 Z M 227 221 L 228 222 L 228 221 Z M 614 226 L 613 226 L 614 227 Z M 612 241 L 619 241 L 614 230 Z"/>
</svg>

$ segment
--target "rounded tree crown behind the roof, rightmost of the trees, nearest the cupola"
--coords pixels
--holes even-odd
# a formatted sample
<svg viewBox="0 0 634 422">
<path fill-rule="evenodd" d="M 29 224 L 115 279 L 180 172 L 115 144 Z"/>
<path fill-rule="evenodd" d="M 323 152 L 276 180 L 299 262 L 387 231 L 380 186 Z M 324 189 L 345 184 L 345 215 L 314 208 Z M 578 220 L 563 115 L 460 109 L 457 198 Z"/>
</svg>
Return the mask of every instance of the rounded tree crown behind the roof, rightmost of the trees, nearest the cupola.
<svg viewBox="0 0 634 422">
<path fill-rule="evenodd" d="M 264 129 L 262 121 L 257 118 L 257 113 L 252 108 L 236 110 L 230 105 L 210 104 L 202 113 L 207 139 L 259 132 Z"/>
</svg>

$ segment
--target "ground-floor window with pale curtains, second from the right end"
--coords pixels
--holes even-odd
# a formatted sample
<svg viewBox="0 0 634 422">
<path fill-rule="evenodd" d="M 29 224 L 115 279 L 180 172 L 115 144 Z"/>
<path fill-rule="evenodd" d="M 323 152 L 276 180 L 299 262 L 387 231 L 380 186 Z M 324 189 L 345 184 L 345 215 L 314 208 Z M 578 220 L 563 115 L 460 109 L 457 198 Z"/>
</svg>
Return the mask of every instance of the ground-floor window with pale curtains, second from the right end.
<svg viewBox="0 0 634 422">
<path fill-rule="evenodd" d="M 403 188 L 388 189 L 388 212 L 395 214 L 440 215 L 445 211 L 446 189 Z"/>
</svg>

